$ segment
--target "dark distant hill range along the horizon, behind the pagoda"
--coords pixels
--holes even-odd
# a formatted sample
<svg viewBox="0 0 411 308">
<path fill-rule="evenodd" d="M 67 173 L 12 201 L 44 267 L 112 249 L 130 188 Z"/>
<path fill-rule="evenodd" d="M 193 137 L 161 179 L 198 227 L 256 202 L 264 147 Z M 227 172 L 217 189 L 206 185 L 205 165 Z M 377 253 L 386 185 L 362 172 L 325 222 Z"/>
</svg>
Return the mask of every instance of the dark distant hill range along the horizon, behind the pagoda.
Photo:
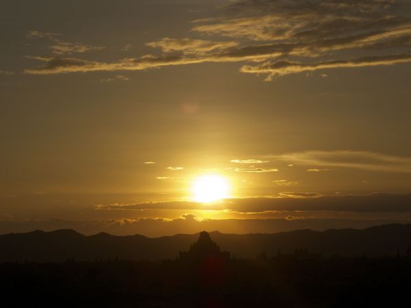
<svg viewBox="0 0 411 308">
<path fill-rule="evenodd" d="M 242 258 L 260 253 L 271 257 L 278 251 L 292 253 L 305 248 L 310 253 L 341 256 L 393 256 L 406 254 L 411 246 L 411 224 L 387 224 L 369 229 L 327 231 L 300 230 L 274 234 L 222 234 L 210 236 L 223 251 Z M 85 236 L 73 230 L 32 231 L 0 235 L 0 262 L 4 261 L 94 261 L 99 259 L 175 259 L 188 251 L 199 233 L 147 238 L 107 233 Z"/>
</svg>

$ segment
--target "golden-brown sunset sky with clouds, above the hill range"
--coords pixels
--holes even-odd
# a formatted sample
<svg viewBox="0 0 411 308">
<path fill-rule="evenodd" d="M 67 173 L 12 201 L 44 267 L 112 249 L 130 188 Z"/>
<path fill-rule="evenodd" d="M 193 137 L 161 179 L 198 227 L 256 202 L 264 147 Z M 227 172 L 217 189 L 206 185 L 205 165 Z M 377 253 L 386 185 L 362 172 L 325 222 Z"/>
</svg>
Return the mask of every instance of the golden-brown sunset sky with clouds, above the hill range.
<svg viewBox="0 0 411 308">
<path fill-rule="evenodd" d="M 410 1 L 3 0 L 0 40 L 2 233 L 411 221 Z"/>
</svg>

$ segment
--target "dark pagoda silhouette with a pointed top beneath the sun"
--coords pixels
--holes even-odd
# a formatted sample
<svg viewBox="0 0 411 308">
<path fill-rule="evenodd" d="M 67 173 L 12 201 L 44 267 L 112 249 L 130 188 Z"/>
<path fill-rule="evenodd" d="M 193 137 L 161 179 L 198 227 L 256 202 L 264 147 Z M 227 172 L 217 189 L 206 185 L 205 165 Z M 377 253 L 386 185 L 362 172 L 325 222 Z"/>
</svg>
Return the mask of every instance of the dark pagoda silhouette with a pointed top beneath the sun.
<svg viewBox="0 0 411 308">
<path fill-rule="evenodd" d="M 183 262 L 202 262 L 207 259 L 221 259 L 222 261 L 229 261 L 230 253 L 228 251 L 221 251 L 220 246 L 216 244 L 206 231 L 200 232 L 199 239 L 194 244 L 191 244 L 190 249 L 179 252 L 179 259 Z"/>
</svg>

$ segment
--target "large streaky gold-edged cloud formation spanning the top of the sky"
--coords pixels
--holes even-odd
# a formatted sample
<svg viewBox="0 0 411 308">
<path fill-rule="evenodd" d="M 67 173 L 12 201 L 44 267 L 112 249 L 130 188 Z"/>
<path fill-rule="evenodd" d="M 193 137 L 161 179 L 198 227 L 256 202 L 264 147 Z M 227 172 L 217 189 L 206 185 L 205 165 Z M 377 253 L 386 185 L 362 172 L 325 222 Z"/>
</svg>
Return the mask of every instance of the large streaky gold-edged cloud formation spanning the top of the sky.
<svg viewBox="0 0 411 308">
<path fill-rule="evenodd" d="M 191 34 L 200 38 L 165 37 L 147 46 L 160 55 L 137 55 L 114 62 L 60 57 L 97 50 L 84 44 L 54 44 L 54 57 L 27 68 L 29 74 L 147 70 L 199 63 L 254 62 L 242 73 L 266 80 L 315 70 L 388 66 L 411 62 L 410 5 L 399 0 L 230 1 L 213 18 L 193 21 Z M 29 36 L 58 34 L 31 31 Z M 204 40 L 206 35 L 213 40 Z M 218 37 L 225 40 L 220 40 Z M 227 37 L 230 38 L 227 41 Z M 327 74 L 322 73 L 322 76 Z"/>
</svg>

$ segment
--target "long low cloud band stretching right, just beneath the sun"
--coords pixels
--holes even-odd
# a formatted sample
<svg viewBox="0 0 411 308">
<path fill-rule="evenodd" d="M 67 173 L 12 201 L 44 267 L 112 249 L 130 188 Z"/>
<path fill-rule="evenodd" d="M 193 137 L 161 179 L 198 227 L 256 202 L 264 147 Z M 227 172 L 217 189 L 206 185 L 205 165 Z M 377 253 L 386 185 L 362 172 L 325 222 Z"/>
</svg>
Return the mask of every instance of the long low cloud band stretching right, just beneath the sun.
<svg viewBox="0 0 411 308">
<path fill-rule="evenodd" d="M 135 204 L 95 205 L 97 210 L 179 209 L 198 210 L 199 203 L 170 201 Z M 262 198 L 231 198 L 208 203 L 207 209 L 256 213 L 267 211 L 347 211 L 352 213 L 411 212 L 411 194 L 366 194 L 325 196 L 317 192 L 282 192 Z"/>
</svg>

